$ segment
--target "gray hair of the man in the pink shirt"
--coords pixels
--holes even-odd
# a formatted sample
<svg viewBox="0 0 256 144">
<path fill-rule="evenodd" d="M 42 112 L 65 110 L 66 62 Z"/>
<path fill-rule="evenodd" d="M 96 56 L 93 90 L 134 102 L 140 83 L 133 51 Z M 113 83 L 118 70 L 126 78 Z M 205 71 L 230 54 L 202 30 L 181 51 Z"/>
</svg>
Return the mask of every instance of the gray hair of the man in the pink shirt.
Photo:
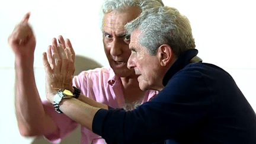
<svg viewBox="0 0 256 144">
<path fill-rule="evenodd" d="M 129 10 L 129 6 L 139 7 L 140 11 L 145 11 L 153 7 L 164 6 L 164 3 L 162 0 L 104 0 L 101 5 L 101 21 L 108 12 L 114 10 L 126 12 Z"/>
</svg>

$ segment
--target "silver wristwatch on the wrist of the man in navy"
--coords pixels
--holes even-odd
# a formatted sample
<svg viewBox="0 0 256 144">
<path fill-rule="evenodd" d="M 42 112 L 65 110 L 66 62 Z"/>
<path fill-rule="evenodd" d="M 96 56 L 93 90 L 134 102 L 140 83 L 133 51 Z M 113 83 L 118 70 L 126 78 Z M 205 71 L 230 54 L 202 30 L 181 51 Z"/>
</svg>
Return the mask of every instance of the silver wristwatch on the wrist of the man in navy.
<svg viewBox="0 0 256 144">
<path fill-rule="evenodd" d="M 53 107 L 55 108 L 57 113 L 62 113 L 62 111 L 60 111 L 59 109 L 60 101 L 62 101 L 63 98 L 69 99 L 72 97 L 73 94 L 68 89 L 59 89 L 59 91 L 57 91 L 57 94 L 55 94 L 55 97 L 53 98 Z"/>
</svg>

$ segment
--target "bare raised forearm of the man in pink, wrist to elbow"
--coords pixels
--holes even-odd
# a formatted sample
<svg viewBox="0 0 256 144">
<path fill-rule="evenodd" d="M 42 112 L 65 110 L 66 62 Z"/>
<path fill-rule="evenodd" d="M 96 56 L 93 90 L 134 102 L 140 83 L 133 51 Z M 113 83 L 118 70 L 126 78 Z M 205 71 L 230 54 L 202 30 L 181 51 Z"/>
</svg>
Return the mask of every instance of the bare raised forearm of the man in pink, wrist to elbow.
<svg viewBox="0 0 256 144">
<path fill-rule="evenodd" d="M 15 59 L 15 110 L 23 136 L 54 132 L 56 124 L 44 112 L 34 78 L 33 58 Z M 47 123 L 47 124 L 46 124 Z"/>
</svg>

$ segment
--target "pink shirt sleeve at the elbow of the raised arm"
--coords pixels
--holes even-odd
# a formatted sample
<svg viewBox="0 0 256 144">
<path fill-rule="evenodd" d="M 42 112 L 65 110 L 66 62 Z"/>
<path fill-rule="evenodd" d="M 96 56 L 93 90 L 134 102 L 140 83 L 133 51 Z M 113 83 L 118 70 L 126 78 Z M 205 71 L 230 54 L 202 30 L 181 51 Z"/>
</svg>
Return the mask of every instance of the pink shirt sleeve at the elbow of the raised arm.
<svg viewBox="0 0 256 144">
<path fill-rule="evenodd" d="M 53 121 L 57 124 L 58 130 L 55 133 L 44 136 L 47 140 L 52 143 L 60 143 L 61 140 L 67 136 L 69 133 L 73 132 L 78 126 L 78 123 L 71 120 L 65 114 L 59 114 L 55 111 L 53 105 L 47 101 L 43 101 L 44 110 L 50 117 L 52 117 Z"/>
</svg>

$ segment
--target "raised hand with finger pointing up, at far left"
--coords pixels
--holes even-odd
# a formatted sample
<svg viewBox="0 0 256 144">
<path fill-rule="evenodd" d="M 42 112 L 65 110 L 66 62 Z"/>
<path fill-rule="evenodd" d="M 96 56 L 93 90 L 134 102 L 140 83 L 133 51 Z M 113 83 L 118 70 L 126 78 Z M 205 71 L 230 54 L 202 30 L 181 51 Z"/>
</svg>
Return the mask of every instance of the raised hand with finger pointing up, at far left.
<svg viewBox="0 0 256 144">
<path fill-rule="evenodd" d="M 33 30 L 28 24 L 30 12 L 24 15 L 23 20 L 16 25 L 11 35 L 8 37 L 8 43 L 15 57 L 21 59 L 34 58 L 34 50 L 36 47 L 36 38 Z"/>
</svg>

